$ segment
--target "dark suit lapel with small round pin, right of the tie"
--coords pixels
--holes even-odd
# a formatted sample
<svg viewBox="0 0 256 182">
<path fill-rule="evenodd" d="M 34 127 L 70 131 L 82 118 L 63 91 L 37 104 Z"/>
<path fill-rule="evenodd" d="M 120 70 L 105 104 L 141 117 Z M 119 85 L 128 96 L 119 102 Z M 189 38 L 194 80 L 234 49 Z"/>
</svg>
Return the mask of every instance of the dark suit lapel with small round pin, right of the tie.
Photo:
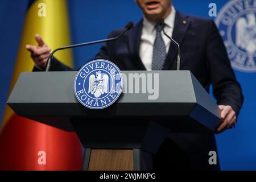
<svg viewBox="0 0 256 182">
<path fill-rule="evenodd" d="M 180 47 L 183 43 L 185 34 L 190 26 L 189 16 L 183 15 L 176 11 L 175 15 L 175 24 L 174 24 L 174 31 L 172 33 L 172 38 L 176 40 L 177 43 L 180 44 Z M 169 51 L 166 56 L 166 61 L 163 66 L 163 70 L 174 70 L 176 69 L 176 56 L 177 56 L 177 47 L 174 43 L 170 44 Z M 182 55 L 181 55 L 182 61 Z"/>
</svg>

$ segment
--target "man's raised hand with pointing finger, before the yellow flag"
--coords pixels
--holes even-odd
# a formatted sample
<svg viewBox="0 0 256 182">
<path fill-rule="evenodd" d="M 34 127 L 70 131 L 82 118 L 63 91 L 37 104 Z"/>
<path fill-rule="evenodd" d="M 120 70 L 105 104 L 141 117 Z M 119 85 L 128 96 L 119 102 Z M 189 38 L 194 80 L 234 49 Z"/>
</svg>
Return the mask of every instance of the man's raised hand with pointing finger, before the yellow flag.
<svg viewBox="0 0 256 182">
<path fill-rule="evenodd" d="M 40 35 L 35 35 L 35 40 L 38 46 L 27 45 L 26 49 L 30 51 L 31 58 L 35 62 L 36 66 L 45 69 L 49 55 L 51 54 L 51 48 L 49 48 Z"/>
</svg>

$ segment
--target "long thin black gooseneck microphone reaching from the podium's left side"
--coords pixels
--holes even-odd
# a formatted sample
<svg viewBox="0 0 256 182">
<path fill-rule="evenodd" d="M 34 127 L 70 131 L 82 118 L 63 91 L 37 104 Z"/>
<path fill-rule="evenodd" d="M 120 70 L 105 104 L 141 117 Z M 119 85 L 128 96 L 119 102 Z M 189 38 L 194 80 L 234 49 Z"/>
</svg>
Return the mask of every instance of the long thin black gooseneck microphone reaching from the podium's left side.
<svg viewBox="0 0 256 182">
<path fill-rule="evenodd" d="M 133 22 L 129 22 L 129 23 L 126 24 L 125 29 L 121 32 L 121 34 L 119 34 L 118 36 L 116 36 L 114 38 L 96 40 L 96 41 L 86 42 L 86 43 L 81 43 L 81 44 L 74 44 L 74 45 L 71 45 L 71 46 L 59 47 L 59 48 L 53 50 L 51 55 L 49 56 L 49 58 L 47 60 L 46 72 L 48 72 L 49 68 L 51 67 L 51 61 L 52 61 L 52 58 L 53 58 L 53 54 L 55 52 L 63 50 L 63 49 L 69 49 L 69 48 L 81 47 L 81 46 L 88 46 L 88 45 L 92 45 L 92 44 L 98 44 L 98 43 L 102 43 L 102 42 L 110 42 L 110 41 L 113 41 L 113 40 L 117 40 L 117 39 L 121 38 L 121 36 L 123 36 L 123 34 L 125 34 L 125 32 L 127 32 L 127 31 L 129 31 L 132 27 L 133 27 Z"/>
</svg>

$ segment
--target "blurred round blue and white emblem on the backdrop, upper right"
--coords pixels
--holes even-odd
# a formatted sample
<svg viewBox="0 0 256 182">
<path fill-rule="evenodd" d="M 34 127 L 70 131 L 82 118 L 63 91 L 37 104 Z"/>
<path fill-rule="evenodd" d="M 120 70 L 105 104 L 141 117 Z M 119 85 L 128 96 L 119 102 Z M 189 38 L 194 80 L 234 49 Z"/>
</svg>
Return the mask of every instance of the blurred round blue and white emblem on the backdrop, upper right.
<svg viewBox="0 0 256 182">
<path fill-rule="evenodd" d="M 232 67 L 238 71 L 256 72 L 255 5 L 255 1 L 229 1 L 215 19 Z"/>
</svg>

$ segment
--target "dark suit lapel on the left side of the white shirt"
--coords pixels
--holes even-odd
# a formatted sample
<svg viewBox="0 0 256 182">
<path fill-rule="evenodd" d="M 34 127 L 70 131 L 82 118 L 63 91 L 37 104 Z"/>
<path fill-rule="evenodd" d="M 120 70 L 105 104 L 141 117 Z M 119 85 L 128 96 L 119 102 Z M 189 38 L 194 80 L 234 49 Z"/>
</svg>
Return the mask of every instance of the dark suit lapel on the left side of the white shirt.
<svg viewBox="0 0 256 182">
<path fill-rule="evenodd" d="M 131 30 L 128 32 L 128 48 L 131 56 L 132 63 L 138 68 L 138 70 L 146 70 L 144 64 L 139 56 L 139 46 L 141 44 L 142 34 L 142 21 L 139 21 Z"/>
</svg>

